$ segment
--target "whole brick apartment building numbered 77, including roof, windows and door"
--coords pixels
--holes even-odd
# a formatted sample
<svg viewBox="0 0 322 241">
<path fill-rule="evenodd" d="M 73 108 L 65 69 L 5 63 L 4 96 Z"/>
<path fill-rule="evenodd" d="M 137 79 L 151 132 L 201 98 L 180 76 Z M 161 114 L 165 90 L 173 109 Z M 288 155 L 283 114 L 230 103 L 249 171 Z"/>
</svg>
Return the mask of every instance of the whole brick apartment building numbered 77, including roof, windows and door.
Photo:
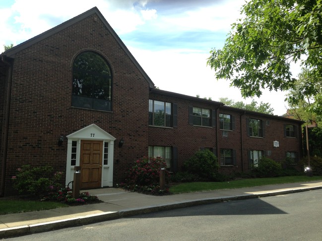
<svg viewBox="0 0 322 241">
<path fill-rule="evenodd" d="M 113 187 L 142 156 L 177 172 L 202 148 L 224 173 L 302 155 L 301 122 L 158 90 L 94 7 L 0 55 L 0 193 L 25 164 Z"/>
</svg>

